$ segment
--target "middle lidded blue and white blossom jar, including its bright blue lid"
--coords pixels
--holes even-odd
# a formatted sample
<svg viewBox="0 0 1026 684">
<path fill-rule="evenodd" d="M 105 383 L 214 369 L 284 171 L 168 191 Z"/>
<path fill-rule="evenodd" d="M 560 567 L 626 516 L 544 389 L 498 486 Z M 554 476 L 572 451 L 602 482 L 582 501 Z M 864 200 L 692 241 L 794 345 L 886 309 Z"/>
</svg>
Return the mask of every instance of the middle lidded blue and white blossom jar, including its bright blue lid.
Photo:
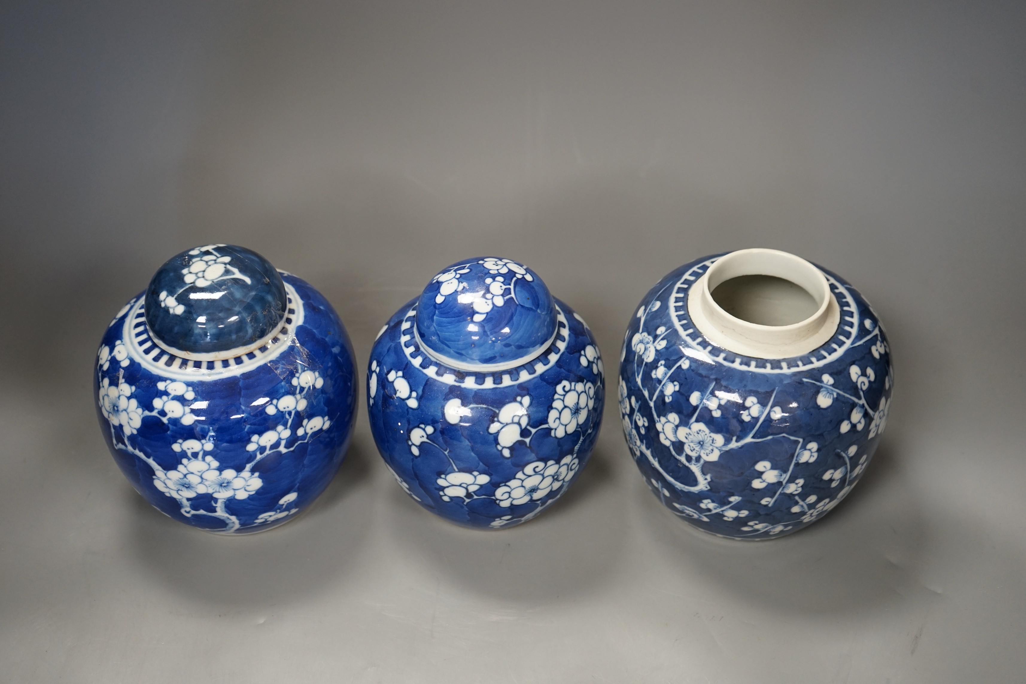
<svg viewBox="0 0 1026 684">
<path fill-rule="evenodd" d="M 452 522 L 530 520 L 573 483 L 602 420 L 587 324 L 507 258 L 453 264 L 378 333 L 367 412 L 399 485 Z"/>
</svg>

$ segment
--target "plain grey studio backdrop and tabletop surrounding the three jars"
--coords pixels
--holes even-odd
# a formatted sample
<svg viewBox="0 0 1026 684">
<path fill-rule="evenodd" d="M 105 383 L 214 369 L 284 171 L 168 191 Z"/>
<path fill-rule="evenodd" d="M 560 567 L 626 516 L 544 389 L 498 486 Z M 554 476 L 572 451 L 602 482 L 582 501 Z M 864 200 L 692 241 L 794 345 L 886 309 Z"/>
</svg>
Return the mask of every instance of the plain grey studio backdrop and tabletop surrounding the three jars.
<svg viewBox="0 0 1026 684">
<path fill-rule="evenodd" d="M 6 3 L 0 681 L 1021 682 L 1023 3 Z M 161 516 L 91 372 L 156 268 L 245 245 L 318 287 L 361 407 L 309 512 Z M 896 394 L 821 522 L 734 542 L 649 493 L 616 402 L 663 275 L 763 246 L 850 280 Z M 366 421 L 378 330 L 459 258 L 521 260 L 595 331 L 566 495 L 481 532 Z"/>
</svg>

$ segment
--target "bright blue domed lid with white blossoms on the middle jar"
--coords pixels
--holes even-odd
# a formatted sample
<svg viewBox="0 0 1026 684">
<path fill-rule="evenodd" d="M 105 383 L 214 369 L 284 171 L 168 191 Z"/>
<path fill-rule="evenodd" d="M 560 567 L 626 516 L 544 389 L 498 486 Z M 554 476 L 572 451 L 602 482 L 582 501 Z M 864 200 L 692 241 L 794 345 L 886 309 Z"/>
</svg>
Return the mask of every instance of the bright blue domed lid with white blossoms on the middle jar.
<svg viewBox="0 0 1026 684">
<path fill-rule="evenodd" d="M 453 264 L 431 279 L 417 305 L 422 347 L 462 370 L 526 363 L 552 344 L 556 330 L 549 288 L 534 271 L 508 258 Z"/>
</svg>

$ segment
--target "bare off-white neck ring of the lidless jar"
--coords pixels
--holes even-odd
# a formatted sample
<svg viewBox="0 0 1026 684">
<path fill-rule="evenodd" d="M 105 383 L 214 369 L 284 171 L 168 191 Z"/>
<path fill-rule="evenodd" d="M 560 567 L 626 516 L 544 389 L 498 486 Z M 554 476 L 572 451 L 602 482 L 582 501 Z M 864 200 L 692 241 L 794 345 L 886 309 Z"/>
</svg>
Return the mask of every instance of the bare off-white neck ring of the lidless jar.
<svg viewBox="0 0 1026 684">
<path fill-rule="evenodd" d="M 817 309 L 787 325 L 739 318 L 713 298 L 713 291 L 743 276 L 771 276 L 793 283 L 812 296 Z M 698 329 L 713 344 L 762 359 L 807 354 L 827 343 L 840 322 L 840 308 L 823 272 L 800 256 L 778 249 L 741 249 L 719 257 L 690 288 L 688 311 Z"/>
</svg>

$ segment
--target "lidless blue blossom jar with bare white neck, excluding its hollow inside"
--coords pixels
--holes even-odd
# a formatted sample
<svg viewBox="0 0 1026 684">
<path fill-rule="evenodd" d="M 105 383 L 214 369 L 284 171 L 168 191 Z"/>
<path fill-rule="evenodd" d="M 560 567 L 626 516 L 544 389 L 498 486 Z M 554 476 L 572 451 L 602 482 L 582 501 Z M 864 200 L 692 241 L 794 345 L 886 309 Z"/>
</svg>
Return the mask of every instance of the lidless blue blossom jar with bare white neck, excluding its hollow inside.
<svg viewBox="0 0 1026 684">
<path fill-rule="evenodd" d="M 735 318 L 712 298 L 743 275 L 801 286 L 818 310 L 792 325 Z M 725 537 L 795 532 L 843 499 L 886 427 L 886 335 L 859 292 L 793 254 L 745 249 L 667 275 L 624 337 L 619 402 L 646 484 Z"/>
</svg>

